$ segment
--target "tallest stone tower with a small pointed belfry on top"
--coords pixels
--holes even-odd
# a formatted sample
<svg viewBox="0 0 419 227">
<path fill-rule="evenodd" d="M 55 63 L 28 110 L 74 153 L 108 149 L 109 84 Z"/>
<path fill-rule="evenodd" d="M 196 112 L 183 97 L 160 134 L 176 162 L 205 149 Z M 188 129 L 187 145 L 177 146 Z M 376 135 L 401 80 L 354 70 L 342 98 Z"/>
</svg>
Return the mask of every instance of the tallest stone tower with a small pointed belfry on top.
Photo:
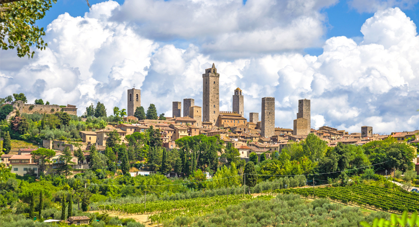
<svg viewBox="0 0 419 227">
<path fill-rule="evenodd" d="M 211 122 L 218 126 L 218 116 L 220 115 L 220 74 L 217 73 L 216 66 L 206 69 L 202 74 L 202 121 Z"/>
</svg>

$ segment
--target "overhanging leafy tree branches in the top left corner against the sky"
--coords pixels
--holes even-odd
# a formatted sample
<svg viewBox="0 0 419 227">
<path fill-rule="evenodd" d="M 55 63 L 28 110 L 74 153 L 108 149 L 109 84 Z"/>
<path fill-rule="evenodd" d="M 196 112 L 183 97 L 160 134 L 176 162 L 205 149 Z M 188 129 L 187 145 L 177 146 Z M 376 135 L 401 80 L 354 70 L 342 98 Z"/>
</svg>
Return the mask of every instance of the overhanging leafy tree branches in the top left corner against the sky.
<svg viewBox="0 0 419 227">
<path fill-rule="evenodd" d="M 45 49 L 47 43 L 42 40 L 42 36 L 45 35 L 44 28 L 39 28 L 35 24 L 45 16 L 46 11 L 52 7 L 52 3 L 57 3 L 57 0 L 6 1 L 6 3 L 2 3 L 2 11 L 0 11 L 2 49 L 16 47 L 20 58 L 25 55 L 33 58 L 35 51 L 31 52 L 30 47 Z"/>
</svg>

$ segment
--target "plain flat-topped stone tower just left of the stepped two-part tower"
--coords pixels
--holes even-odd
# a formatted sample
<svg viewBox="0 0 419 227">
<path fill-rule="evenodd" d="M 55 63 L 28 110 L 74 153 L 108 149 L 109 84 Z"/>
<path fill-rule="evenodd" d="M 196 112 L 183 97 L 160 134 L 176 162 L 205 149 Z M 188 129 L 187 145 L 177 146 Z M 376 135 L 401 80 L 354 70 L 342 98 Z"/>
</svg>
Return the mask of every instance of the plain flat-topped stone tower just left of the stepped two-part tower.
<svg viewBox="0 0 419 227">
<path fill-rule="evenodd" d="M 271 137 L 275 134 L 275 98 L 262 98 L 261 136 Z"/>
</svg>

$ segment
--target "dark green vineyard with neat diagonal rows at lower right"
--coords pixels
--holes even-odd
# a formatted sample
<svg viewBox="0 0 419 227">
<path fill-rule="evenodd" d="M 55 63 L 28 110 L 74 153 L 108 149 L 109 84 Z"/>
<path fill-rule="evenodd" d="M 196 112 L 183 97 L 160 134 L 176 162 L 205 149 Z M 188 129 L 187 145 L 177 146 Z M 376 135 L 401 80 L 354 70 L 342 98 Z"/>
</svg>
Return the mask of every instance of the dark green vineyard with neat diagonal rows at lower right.
<svg viewBox="0 0 419 227">
<path fill-rule="evenodd" d="M 346 187 L 279 189 L 275 193 L 294 193 L 302 196 L 329 198 L 342 203 L 370 206 L 383 211 L 414 212 L 419 210 L 419 194 L 394 191 L 375 186 L 353 185 Z"/>
</svg>

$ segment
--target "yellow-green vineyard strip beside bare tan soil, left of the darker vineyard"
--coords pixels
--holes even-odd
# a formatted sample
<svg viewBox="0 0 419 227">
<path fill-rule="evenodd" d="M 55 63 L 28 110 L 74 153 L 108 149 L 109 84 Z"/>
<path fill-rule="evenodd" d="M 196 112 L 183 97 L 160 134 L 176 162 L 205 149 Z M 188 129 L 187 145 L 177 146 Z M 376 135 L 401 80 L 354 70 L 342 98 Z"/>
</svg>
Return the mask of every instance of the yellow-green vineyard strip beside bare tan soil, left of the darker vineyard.
<svg viewBox="0 0 419 227">
<path fill-rule="evenodd" d="M 260 196 L 257 199 L 269 200 L 272 196 Z M 150 214 L 151 223 L 161 223 L 172 220 L 176 216 L 198 216 L 213 212 L 216 209 L 225 209 L 229 205 L 237 205 L 243 201 L 254 199 L 251 195 L 223 195 L 202 197 L 184 200 L 166 200 L 136 204 L 109 204 L 99 205 L 97 208 L 104 212 L 123 214 Z"/>
</svg>

